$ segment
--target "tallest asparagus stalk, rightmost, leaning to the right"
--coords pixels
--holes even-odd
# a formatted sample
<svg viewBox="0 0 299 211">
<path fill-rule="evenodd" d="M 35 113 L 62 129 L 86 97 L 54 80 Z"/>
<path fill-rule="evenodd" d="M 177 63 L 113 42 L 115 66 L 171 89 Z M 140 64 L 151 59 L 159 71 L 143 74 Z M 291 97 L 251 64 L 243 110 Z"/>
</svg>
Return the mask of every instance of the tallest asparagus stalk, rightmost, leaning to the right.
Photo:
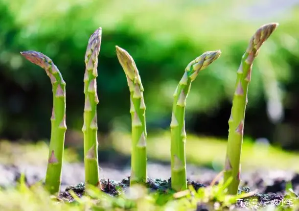
<svg viewBox="0 0 299 211">
<path fill-rule="evenodd" d="M 276 29 L 278 23 L 262 25 L 249 42 L 237 71 L 235 93 L 232 100 L 232 108 L 229 119 L 229 137 L 225 161 L 224 182 L 232 177 L 228 190 L 230 194 L 236 194 L 240 183 L 240 157 L 243 142 L 243 129 L 245 109 L 247 104 L 248 85 L 251 79 L 253 60 L 259 52 L 261 45 Z"/>
</svg>

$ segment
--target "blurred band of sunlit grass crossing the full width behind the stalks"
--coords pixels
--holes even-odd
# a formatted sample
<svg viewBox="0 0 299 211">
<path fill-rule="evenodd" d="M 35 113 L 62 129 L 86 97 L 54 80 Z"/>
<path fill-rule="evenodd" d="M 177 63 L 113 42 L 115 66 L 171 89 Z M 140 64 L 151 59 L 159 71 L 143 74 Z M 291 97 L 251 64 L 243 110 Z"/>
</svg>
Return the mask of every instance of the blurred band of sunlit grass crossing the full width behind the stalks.
<svg viewBox="0 0 299 211">
<path fill-rule="evenodd" d="M 100 138 L 99 163 L 113 163 L 117 166 L 130 164 L 131 136 L 128 131 L 113 131 L 109 136 Z M 37 143 L 11 143 L 0 140 L 0 163 L 2 164 L 47 164 L 49 147 L 40 140 Z M 110 142 L 105 146 L 103 142 Z M 186 141 L 186 162 L 197 166 L 206 166 L 215 171 L 222 171 L 225 163 L 226 142 L 213 137 L 198 137 L 188 133 Z M 159 131 L 150 134 L 147 139 L 147 156 L 149 162 L 165 162 L 170 160 L 170 133 Z M 64 151 L 66 163 L 83 162 L 80 147 L 67 144 Z M 38 158 L 38 159 L 37 159 Z M 255 169 L 286 170 L 299 172 L 299 153 L 286 152 L 278 146 L 270 145 L 265 139 L 254 141 L 245 137 L 241 164 L 244 171 Z"/>
</svg>

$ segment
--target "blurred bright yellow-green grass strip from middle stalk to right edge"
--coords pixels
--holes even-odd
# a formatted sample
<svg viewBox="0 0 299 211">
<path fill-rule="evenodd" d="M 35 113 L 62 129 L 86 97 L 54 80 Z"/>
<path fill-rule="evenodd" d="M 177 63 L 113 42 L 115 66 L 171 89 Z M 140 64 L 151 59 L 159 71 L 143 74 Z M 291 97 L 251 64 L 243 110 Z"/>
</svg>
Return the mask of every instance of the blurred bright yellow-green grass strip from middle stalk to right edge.
<svg viewBox="0 0 299 211">
<path fill-rule="evenodd" d="M 121 137 L 121 139 L 119 139 Z M 131 141 L 128 133 L 115 131 L 112 133 L 113 147 L 119 153 L 130 156 Z M 170 158 L 170 133 L 161 131 L 150 135 L 147 139 L 147 153 L 151 160 L 169 162 Z M 225 140 L 211 137 L 196 137 L 187 135 L 186 162 L 206 166 L 215 171 L 222 171 L 225 163 Z M 297 161 L 299 153 L 290 153 L 279 147 L 270 145 L 265 140 L 257 140 L 246 137 L 242 147 L 242 170 L 287 170 L 299 172 Z"/>
</svg>

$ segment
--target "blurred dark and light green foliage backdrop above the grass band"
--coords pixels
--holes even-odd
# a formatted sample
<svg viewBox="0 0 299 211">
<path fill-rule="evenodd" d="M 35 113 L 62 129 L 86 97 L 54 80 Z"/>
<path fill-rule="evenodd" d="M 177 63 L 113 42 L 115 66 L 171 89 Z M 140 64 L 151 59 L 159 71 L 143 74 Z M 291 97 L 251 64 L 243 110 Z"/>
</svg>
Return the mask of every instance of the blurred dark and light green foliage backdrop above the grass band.
<svg viewBox="0 0 299 211">
<path fill-rule="evenodd" d="M 44 70 L 19 53 L 36 50 L 52 58 L 67 82 L 66 144 L 82 145 L 84 55 L 89 36 L 101 26 L 101 137 L 131 127 L 118 45 L 139 69 L 149 134 L 169 129 L 172 94 L 186 65 L 220 49 L 221 57 L 192 84 L 186 130 L 225 140 L 241 57 L 260 25 L 278 22 L 253 64 L 244 132 L 253 141 L 299 150 L 298 5 L 296 0 L 0 0 L 0 139 L 50 136 L 51 84 Z M 100 147 L 109 145 L 104 140 Z"/>
</svg>

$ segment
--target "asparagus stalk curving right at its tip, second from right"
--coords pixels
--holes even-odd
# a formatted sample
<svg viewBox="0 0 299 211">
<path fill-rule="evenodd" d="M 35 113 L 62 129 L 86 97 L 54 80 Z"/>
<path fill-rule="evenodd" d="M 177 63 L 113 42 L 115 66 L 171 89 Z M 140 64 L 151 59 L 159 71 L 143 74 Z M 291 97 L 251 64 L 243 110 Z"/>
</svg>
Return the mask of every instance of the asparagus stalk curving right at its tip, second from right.
<svg viewBox="0 0 299 211">
<path fill-rule="evenodd" d="M 207 51 L 191 61 L 184 72 L 174 93 L 173 110 L 170 123 L 171 131 L 171 188 L 176 191 L 185 190 L 186 160 L 185 160 L 185 105 L 186 98 L 191 88 L 191 82 L 195 80 L 200 70 L 207 68 L 221 54 L 220 50 Z"/>
</svg>

